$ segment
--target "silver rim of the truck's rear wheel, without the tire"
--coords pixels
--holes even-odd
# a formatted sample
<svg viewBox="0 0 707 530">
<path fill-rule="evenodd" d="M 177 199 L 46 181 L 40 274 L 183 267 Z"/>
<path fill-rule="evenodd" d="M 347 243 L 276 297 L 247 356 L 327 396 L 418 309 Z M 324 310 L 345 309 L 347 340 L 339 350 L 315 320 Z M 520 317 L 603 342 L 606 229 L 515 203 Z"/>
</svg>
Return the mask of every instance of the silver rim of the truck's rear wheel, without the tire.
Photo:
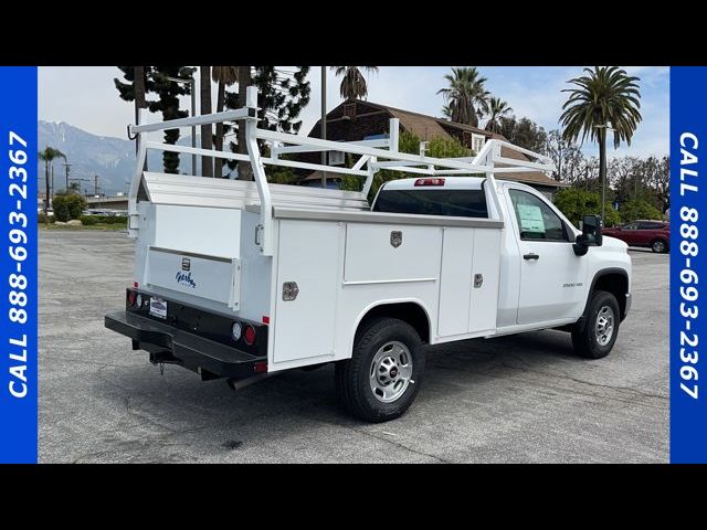
<svg viewBox="0 0 707 530">
<path fill-rule="evenodd" d="M 412 381 L 412 356 L 402 342 L 386 342 L 373 356 L 371 392 L 382 403 L 392 403 L 408 390 Z"/>
</svg>

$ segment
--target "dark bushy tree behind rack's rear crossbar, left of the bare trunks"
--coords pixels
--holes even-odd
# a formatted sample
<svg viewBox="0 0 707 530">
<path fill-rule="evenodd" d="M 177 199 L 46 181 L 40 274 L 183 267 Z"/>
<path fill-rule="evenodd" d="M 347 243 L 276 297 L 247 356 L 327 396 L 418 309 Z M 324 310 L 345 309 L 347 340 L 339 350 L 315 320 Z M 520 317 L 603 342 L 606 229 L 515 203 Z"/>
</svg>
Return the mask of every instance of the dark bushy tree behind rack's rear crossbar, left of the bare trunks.
<svg viewBox="0 0 707 530">
<path fill-rule="evenodd" d="M 191 94 L 190 85 L 170 81 L 168 77 L 191 78 L 194 68 L 188 66 L 152 66 L 152 68 L 150 87 L 158 99 L 147 102 L 147 108 L 151 113 L 161 113 L 165 121 L 189 116 L 187 110 L 179 108 L 179 96 Z M 179 136 L 179 129 L 165 130 L 165 144 L 177 144 Z M 163 151 L 162 163 L 166 173 L 178 173 L 179 153 Z M 196 168 L 192 168 L 192 172 L 196 172 Z"/>
</svg>

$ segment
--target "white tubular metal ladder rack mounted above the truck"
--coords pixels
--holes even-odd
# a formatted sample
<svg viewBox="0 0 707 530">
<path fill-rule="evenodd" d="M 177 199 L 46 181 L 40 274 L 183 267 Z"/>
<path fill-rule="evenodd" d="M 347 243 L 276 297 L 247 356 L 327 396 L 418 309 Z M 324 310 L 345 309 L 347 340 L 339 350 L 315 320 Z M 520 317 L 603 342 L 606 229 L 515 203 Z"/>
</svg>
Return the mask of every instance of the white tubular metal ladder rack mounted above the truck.
<svg viewBox="0 0 707 530">
<path fill-rule="evenodd" d="M 246 105 L 235 110 L 223 113 L 181 118 L 155 124 L 145 124 L 146 110 L 140 109 L 138 124 L 129 125 L 128 132 L 135 136 L 138 142 L 137 166 L 130 183 L 128 197 L 128 233 L 131 237 L 137 236 L 139 229 L 139 215 L 137 211 L 137 197 L 140 182 L 144 178 L 143 168 L 147 159 L 148 149 L 159 149 L 162 151 L 189 153 L 205 157 L 222 158 L 225 160 L 247 161 L 253 169 L 253 177 L 260 198 L 260 225 L 257 226 L 256 240 L 260 242 L 261 253 L 265 256 L 273 254 L 273 197 L 271 184 L 265 177 L 265 165 L 281 166 L 298 169 L 310 169 L 314 171 L 326 171 L 327 173 L 349 174 L 365 179 L 361 189 L 363 198 L 368 194 L 373 183 L 373 177 L 380 169 L 392 171 L 404 171 L 409 173 L 425 176 L 465 176 L 485 174 L 492 183 L 489 187 L 492 199 L 495 202 L 497 214 L 503 222 L 502 209 L 499 208 L 498 194 L 496 191 L 494 173 L 513 173 L 520 171 L 552 171 L 555 169 L 549 158 L 514 146 L 507 141 L 492 139 L 488 140 L 475 157 L 464 158 L 434 158 L 428 157 L 424 149 L 419 155 L 410 155 L 398 150 L 398 138 L 400 124 L 397 118 L 390 120 L 388 138 L 363 141 L 333 141 L 307 136 L 292 135 L 274 130 L 257 128 L 257 89 L 254 86 L 246 88 Z M 166 129 L 180 127 L 194 127 L 198 125 L 210 125 L 224 121 L 243 121 L 245 125 L 245 141 L 247 155 L 217 151 L 212 149 L 201 149 L 187 146 L 177 146 L 163 142 L 148 141 L 145 135 Z M 271 156 L 262 157 L 257 140 L 264 140 L 271 146 Z M 514 159 L 502 156 L 502 148 L 508 148 L 531 157 L 538 161 L 529 159 Z M 341 151 L 359 156 L 352 168 L 327 166 L 323 163 L 302 162 L 296 160 L 285 160 L 281 155 L 294 152 L 323 152 Z M 497 166 L 500 165 L 500 166 Z M 196 168 L 192 168 L 196 172 Z M 173 176 L 178 177 L 178 176 Z M 194 180 L 196 182 L 196 180 Z M 204 182 L 205 184 L 205 182 Z M 324 190 L 317 190 L 321 193 Z M 334 192 L 335 190 L 328 190 Z"/>
</svg>

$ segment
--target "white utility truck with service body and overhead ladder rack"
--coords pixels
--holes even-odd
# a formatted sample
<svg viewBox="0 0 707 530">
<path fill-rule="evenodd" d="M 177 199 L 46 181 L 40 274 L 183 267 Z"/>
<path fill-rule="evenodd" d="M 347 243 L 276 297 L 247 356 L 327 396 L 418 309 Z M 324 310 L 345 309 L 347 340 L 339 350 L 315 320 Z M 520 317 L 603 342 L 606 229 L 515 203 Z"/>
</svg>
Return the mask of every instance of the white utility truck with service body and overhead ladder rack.
<svg viewBox="0 0 707 530">
<path fill-rule="evenodd" d="M 580 232 L 538 191 L 494 178 L 549 171 L 548 159 L 495 139 L 473 158 L 432 158 L 424 144 L 419 155 L 398 152 L 394 119 L 388 138 L 358 142 L 263 130 L 256 102 L 251 87 L 242 109 L 129 127 L 139 146 L 135 283 L 105 325 L 152 363 L 239 389 L 333 362 L 342 404 L 381 422 L 414 400 L 423 344 L 556 328 L 583 357 L 611 351 L 631 305 L 626 244 L 602 237 L 599 218 L 585 216 Z M 146 138 L 232 120 L 246 129 L 247 155 Z M 254 181 L 144 171 L 148 149 L 247 163 Z M 282 157 L 321 151 L 356 163 Z M 362 187 L 270 184 L 266 166 L 356 176 Z M 369 205 L 382 168 L 419 178 L 389 181 Z"/>
</svg>

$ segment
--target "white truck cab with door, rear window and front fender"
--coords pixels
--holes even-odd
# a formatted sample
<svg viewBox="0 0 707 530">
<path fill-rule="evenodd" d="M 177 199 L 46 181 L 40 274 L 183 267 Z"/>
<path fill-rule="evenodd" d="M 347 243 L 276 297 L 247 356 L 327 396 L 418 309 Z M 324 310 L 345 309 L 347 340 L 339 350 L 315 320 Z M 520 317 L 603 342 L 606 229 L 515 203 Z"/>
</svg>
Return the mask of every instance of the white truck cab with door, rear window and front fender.
<svg viewBox="0 0 707 530">
<path fill-rule="evenodd" d="M 379 189 L 371 210 L 485 219 L 496 214 L 488 186 L 481 177 L 393 180 Z M 507 224 L 500 245 L 494 336 L 581 327 L 597 289 L 616 299 L 616 319 L 623 320 L 631 306 L 627 245 L 603 236 L 600 244 L 588 245 L 585 253 L 578 252 L 582 231 L 542 193 L 515 181 L 498 180 L 496 187 Z M 610 340 L 613 343 L 615 335 Z"/>
</svg>

